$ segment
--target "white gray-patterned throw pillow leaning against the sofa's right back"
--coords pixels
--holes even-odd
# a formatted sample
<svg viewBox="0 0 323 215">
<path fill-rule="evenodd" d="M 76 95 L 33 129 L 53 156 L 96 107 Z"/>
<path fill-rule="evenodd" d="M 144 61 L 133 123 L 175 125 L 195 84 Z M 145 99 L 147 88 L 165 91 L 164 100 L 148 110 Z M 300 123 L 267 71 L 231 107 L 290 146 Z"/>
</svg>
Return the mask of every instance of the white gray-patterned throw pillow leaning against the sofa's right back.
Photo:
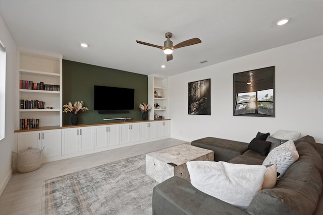
<svg viewBox="0 0 323 215">
<path fill-rule="evenodd" d="M 277 172 L 280 175 L 278 179 L 282 178 L 287 168 L 292 165 L 299 158 L 298 152 L 293 140 L 288 140 L 284 144 L 273 149 L 264 159 L 262 165 L 277 164 Z"/>
</svg>

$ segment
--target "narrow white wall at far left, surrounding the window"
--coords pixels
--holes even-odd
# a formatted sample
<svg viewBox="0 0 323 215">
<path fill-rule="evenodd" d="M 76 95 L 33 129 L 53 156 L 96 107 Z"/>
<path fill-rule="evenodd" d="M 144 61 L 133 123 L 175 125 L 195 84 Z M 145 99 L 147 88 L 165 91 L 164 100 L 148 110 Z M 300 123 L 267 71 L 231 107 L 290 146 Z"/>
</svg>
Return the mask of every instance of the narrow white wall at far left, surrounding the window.
<svg viewBox="0 0 323 215">
<path fill-rule="evenodd" d="M 12 175 L 12 154 L 15 130 L 16 45 L 0 16 L 0 40 L 6 46 L 6 125 L 5 139 L 0 141 L 0 195 Z"/>
</svg>

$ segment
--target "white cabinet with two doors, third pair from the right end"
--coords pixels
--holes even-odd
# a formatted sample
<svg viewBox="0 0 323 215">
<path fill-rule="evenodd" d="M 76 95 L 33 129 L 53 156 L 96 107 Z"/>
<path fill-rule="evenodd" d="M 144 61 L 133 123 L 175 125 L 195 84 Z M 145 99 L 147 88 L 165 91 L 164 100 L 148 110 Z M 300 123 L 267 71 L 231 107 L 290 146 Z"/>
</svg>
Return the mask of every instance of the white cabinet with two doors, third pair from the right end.
<svg viewBox="0 0 323 215">
<path fill-rule="evenodd" d="M 139 123 L 120 125 L 120 144 L 128 144 L 140 140 Z"/>
</svg>

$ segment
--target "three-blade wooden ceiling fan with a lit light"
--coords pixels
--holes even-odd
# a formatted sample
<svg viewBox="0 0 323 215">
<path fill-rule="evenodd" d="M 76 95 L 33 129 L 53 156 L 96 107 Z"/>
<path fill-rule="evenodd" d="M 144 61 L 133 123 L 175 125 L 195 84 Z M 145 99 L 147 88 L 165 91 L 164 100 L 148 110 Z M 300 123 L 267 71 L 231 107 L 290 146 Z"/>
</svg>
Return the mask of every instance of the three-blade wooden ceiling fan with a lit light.
<svg viewBox="0 0 323 215">
<path fill-rule="evenodd" d="M 194 45 L 194 44 L 202 42 L 198 38 L 192 38 L 192 39 L 185 40 L 185 41 L 173 46 L 173 41 L 170 40 L 172 38 L 172 33 L 167 32 L 165 37 L 167 38 L 167 40 L 164 42 L 164 46 L 159 46 L 159 45 L 154 45 L 154 44 L 150 44 L 150 43 L 146 43 L 146 42 L 141 42 L 139 40 L 136 40 L 136 42 L 140 43 L 140 44 L 143 44 L 143 45 L 148 45 L 148 46 L 152 46 L 152 47 L 156 47 L 156 48 L 160 48 L 160 49 L 164 50 L 164 53 L 167 54 L 166 55 L 167 61 L 173 59 L 173 54 L 172 53 L 173 53 L 174 49 L 182 48 L 182 47 L 185 47 L 185 46 Z"/>
</svg>

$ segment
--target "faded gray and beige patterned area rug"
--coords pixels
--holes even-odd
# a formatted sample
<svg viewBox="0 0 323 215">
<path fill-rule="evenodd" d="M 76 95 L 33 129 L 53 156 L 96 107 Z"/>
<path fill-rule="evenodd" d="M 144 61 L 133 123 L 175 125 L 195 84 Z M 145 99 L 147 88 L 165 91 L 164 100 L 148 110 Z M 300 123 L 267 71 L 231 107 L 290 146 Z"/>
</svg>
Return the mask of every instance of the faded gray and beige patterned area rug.
<svg viewBox="0 0 323 215">
<path fill-rule="evenodd" d="M 42 214 L 152 214 L 145 155 L 45 180 Z"/>
</svg>

